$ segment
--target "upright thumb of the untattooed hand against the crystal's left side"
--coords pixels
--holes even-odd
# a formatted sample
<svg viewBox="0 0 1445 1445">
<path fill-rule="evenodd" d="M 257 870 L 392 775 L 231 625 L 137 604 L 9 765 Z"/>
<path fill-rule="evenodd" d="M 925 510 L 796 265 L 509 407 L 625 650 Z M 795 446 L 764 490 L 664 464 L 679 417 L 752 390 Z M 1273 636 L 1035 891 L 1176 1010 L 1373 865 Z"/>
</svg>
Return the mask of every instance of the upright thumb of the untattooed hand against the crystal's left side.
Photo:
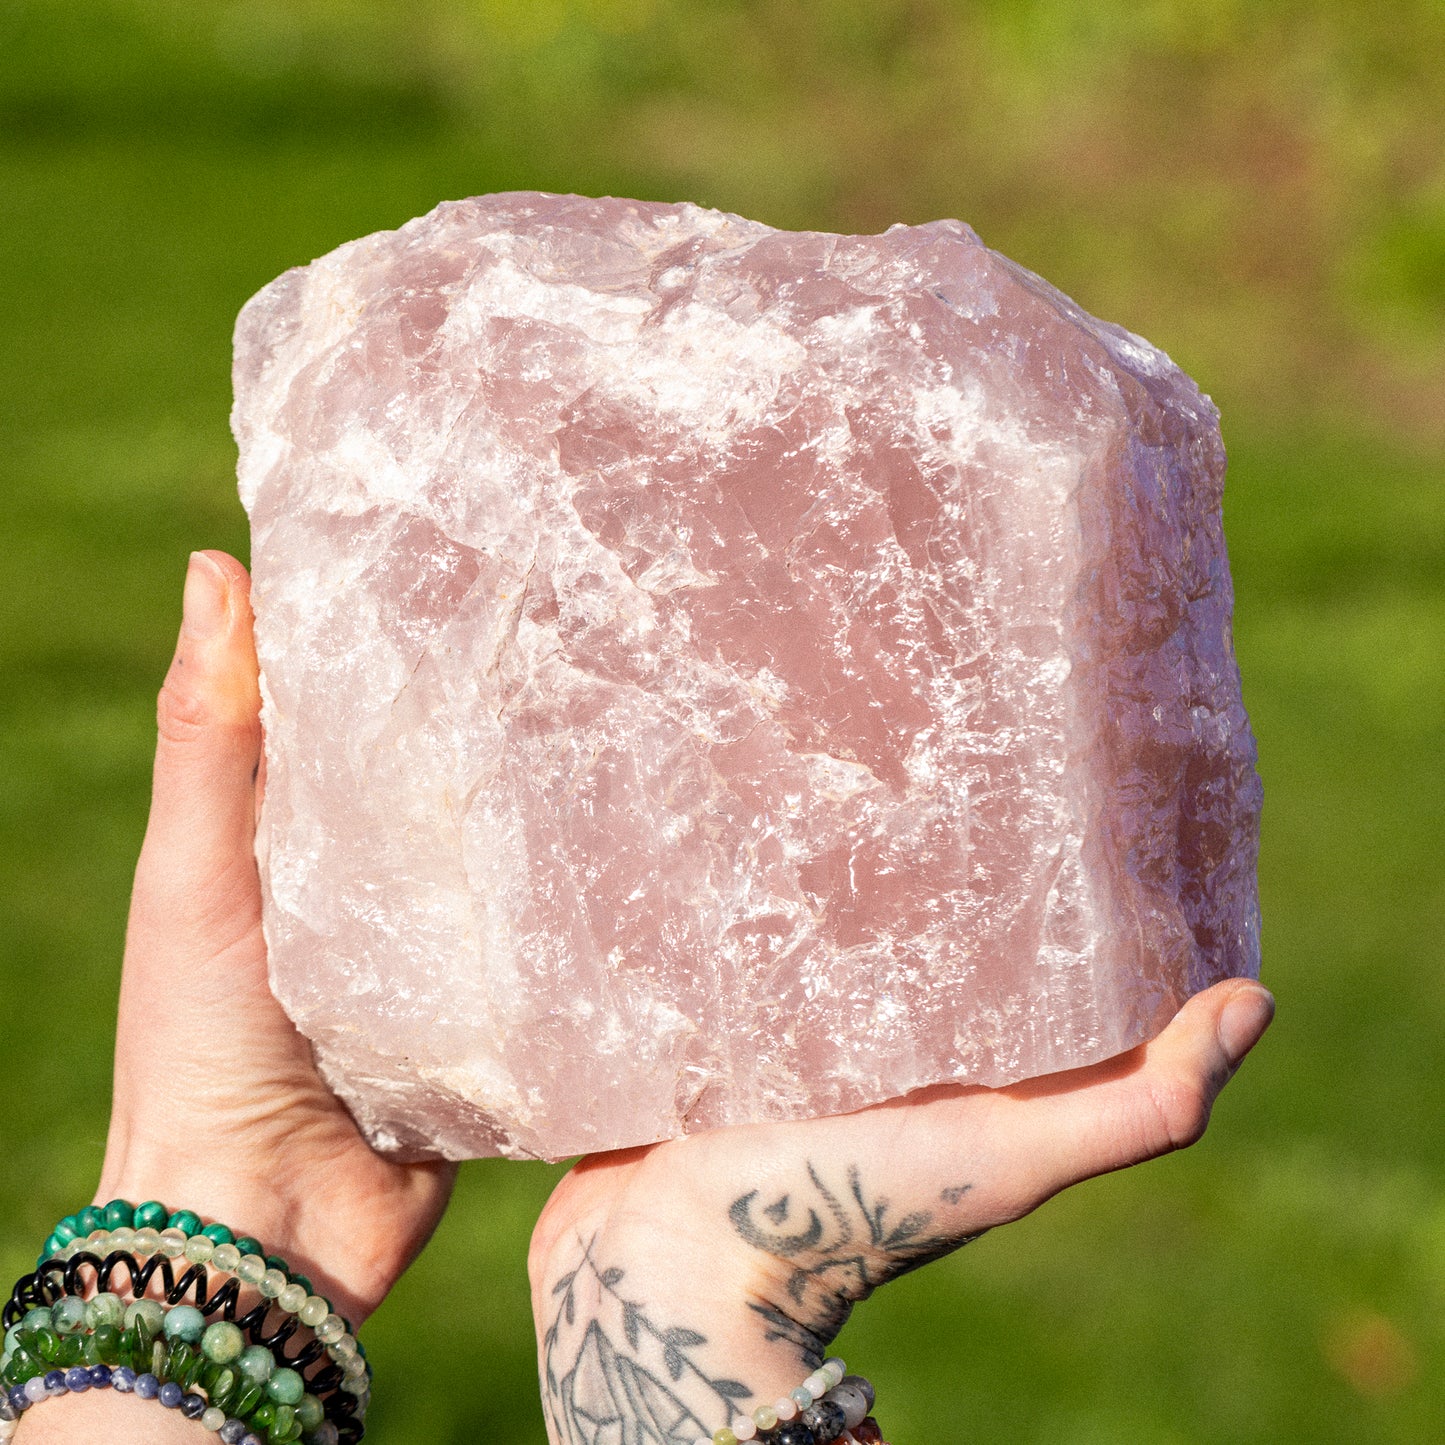
<svg viewBox="0 0 1445 1445">
<path fill-rule="evenodd" d="M 131 932 L 147 935 L 152 952 L 179 945 L 204 957 L 253 926 L 260 907 L 253 844 L 262 730 L 250 582 L 224 552 L 191 556 L 156 721 Z"/>
</svg>

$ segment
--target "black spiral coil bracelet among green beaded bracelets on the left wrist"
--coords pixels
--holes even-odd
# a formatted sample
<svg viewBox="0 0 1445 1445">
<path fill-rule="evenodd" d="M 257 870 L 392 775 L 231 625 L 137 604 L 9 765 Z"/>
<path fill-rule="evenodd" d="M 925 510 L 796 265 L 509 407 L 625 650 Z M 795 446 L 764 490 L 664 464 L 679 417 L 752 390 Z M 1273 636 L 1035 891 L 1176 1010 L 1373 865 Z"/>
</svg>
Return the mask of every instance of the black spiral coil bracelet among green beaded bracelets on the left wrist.
<svg viewBox="0 0 1445 1445">
<path fill-rule="evenodd" d="M 45 1308 L 45 1303 L 49 1303 L 51 1312 L 55 1316 L 53 1325 L 56 1327 L 56 1334 L 62 1337 L 78 1332 L 84 1321 L 91 1314 L 97 1315 L 95 1324 L 98 1327 L 104 1327 L 108 1321 L 101 1318 L 100 1312 L 92 1311 L 91 1308 L 95 1305 L 95 1300 L 90 1300 L 87 1303 L 79 1298 L 85 1293 L 79 1280 L 79 1272 L 85 1267 L 95 1270 L 95 1299 L 114 1300 L 114 1306 L 120 1306 L 120 1300 L 114 1295 L 107 1295 L 107 1290 L 114 1270 L 118 1267 L 126 1269 L 130 1280 L 129 1292 L 137 1300 L 137 1303 L 131 1305 L 126 1312 L 127 1327 L 131 1325 L 136 1312 L 144 1312 L 149 1309 L 155 1312 L 155 1315 L 149 1319 L 152 1334 L 158 1334 L 160 1329 L 160 1321 L 165 1321 L 166 1334 L 176 1340 L 178 1344 L 188 1347 L 198 1345 L 201 1342 L 202 1331 L 205 1331 L 205 1315 L 217 1314 L 220 1311 L 224 1315 L 225 1324 L 236 1328 L 237 1334 L 244 1331 L 253 1345 L 259 1347 L 260 1354 L 264 1354 L 267 1360 L 272 1360 L 275 1366 L 280 1368 L 296 1371 L 299 1376 L 303 1368 L 321 1358 L 322 1347 L 318 1341 L 308 1344 L 295 1357 L 288 1357 L 285 1354 L 282 1347 L 298 1328 L 295 1318 L 283 1319 L 279 1329 L 270 1335 L 266 1334 L 264 1325 L 269 1316 L 269 1300 L 263 1299 L 250 1314 L 237 1319 L 236 1308 L 240 1289 L 234 1282 L 227 1282 L 208 1299 L 205 1295 L 207 1276 L 204 1266 L 192 1266 L 179 1280 L 176 1280 L 171 1269 L 171 1261 L 163 1256 L 153 1256 L 146 1260 L 144 1264 L 137 1264 L 133 1256 L 123 1251 L 114 1251 L 107 1256 L 105 1260 L 100 1260 L 97 1256 L 88 1253 L 77 1254 L 64 1266 L 64 1269 L 58 1263 L 52 1263 L 43 1270 L 39 1270 L 36 1276 L 29 1276 L 29 1279 L 39 1280 L 39 1283 L 32 1289 L 22 1289 L 25 1285 L 25 1280 L 22 1280 L 22 1285 L 16 1287 L 16 1296 L 38 1298 L 42 1300 L 42 1305 L 39 1306 L 40 1309 Z M 142 1298 L 152 1274 L 156 1270 L 159 1270 L 162 1276 L 166 1302 L 175 1306 L 169 1312 L 163 1311 L 158 1302 Z M 197 1306 L 182 1305 L 181 1300 L 184 1300 L 192 1289 L 195 1290 Z M 71 1306 L 71 1315 L 65 1315 L 66 1305 Z M 35 1311 L 32 1311 L 32 1314 L 35 1314 Z M 27 1315 L 26 1318 L 30 1316 Z M 194 1334 L 197 1338 L 189 1340 L 186 1338 L 188 1334 Z M 124 1344 L 126 1348 L 134 1350 L 133 1341 L 124 1341 Z M 361 1361 L 360 1355 L 357 1360 L 364 1368 L 364 1361 Z M 79 1361 L 66 1360 L 58 1363 Z M 113 1364 L 116 1361 L 97 1358 L 91 1363 Z M 149 1364 L 143 1355 L 136 1357 L 133 1363 L 137 1368 L 146 1368 Z M 344 1432 L 348 1432 L 347 1426 L 351 1425 L 353 1420 L 360 1425 L 364 1419 L 366 1403 L 368 1402 L 367 1380 L 364 1373 L 348 1377 L 332 1363 L 316 1371 L 311 1379 L 302 1377 L 302 1380 L 311 1393 L 325 1400 L 328 1418 L 332 1419 Z M 348 1389 L 348 1386 L 351 1389 Z M 355 1393 L 358 1387 L 361 1390 L 360 1394 Z"/>
</svg>

